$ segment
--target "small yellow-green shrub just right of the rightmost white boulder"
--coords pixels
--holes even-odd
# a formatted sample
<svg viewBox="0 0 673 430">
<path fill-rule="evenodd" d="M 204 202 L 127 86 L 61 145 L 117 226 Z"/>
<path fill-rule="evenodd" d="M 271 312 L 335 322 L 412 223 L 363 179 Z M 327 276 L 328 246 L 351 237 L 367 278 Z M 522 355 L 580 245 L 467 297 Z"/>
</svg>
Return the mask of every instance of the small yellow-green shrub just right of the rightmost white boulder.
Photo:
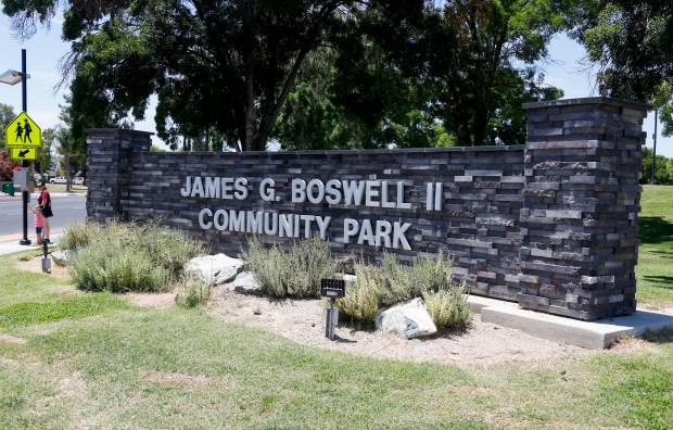
<svg viewBox="0 0 673 430">
<path fill-rule="evenodd" d="M 437 329 L 464 329 L 472 320 L 465 286 L 454 286 L 440 291 L 423 293 L 426 307 Z"/>
</svg>

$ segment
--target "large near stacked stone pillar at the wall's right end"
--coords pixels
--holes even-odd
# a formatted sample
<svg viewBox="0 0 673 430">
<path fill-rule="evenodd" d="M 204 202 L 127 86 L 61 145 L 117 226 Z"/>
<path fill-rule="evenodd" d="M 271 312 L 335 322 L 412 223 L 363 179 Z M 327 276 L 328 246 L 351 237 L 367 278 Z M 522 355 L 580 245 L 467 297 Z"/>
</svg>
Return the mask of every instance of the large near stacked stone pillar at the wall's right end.
<svg viewBox="0 0 673 430">
<path fill-rule="evenodd" d="M 521 307 L 579 319 L 635 311 L 649 108 L 609 98 L 524 105 Z"/>
</svg>

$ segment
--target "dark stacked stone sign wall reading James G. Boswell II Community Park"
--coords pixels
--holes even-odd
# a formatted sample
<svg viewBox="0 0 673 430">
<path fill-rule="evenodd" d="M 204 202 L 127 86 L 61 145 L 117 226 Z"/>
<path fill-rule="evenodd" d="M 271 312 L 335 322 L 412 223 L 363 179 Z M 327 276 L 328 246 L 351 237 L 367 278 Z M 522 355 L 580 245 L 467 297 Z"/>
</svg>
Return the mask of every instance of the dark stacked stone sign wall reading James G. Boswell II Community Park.
<svg viewBox="0 0 673 430">
<path fill-rule="evenodd" d="M 474 294 L 581 319 L 634 312 L 648 106 L 524 108 L 519 147 L 163 153 L 148 132 L 89 129 L 87 213 L 161 218 L 232 255 L 250 235 L 319 235 L 374 261 L 442 250 Z"/>
</svg>

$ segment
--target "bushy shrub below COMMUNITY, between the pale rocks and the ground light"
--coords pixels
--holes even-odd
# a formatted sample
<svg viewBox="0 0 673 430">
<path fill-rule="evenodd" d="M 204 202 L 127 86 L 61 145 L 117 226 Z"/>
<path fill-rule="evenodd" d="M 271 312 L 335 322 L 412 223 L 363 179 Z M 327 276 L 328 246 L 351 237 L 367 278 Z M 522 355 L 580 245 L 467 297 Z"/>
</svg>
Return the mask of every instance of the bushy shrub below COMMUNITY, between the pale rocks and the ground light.
<svg viewBox="0 0 673 430">
<path fill-rule="evenodd" d="M 320 280 L 333 277 L 341 267 L 332 258 L 329 244 L 319 237 L 293 242 L 288 252 L 276 245 L 265 248 L 253 237 L 242 257 L 262 289 L 277 298 L 317 298 Z"/>
</svg>

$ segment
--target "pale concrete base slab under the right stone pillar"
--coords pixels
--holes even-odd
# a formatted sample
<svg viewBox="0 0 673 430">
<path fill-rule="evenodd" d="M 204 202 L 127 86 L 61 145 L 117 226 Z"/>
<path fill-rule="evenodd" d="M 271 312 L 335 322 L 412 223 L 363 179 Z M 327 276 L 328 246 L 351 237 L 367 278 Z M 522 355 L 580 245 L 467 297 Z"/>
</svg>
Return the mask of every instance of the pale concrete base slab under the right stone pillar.
<svg viewBox="0 0 673 430">
<path fill-rule="evenodd" d="M 582 321 L 519 308 L 517 303 L 470 295 L 469 303 L 482 321 L 515 328 L 537 338 L 589 350 L 609 347 L 623 336 L 640 337 L 647 331 L 673 329 L 673 315 L 637 311 L 634 314 Z"/>
</svg>

